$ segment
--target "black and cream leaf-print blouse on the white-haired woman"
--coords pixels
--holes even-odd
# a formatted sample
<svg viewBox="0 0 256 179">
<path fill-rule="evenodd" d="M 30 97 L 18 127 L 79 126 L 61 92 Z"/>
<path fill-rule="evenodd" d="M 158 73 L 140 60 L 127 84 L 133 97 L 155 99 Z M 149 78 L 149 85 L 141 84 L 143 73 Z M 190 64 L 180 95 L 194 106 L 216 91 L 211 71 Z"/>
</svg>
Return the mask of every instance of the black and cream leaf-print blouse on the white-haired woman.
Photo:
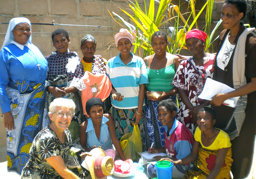
<svg viewBox="0 0 256 179">
<path fill-rule="evenodd" d="M 22 179 L 62 178 L 45 159 L 60 155 L 64 163 L 67 162 L 71 135 L 68 129 L 65 129 L 64 133 L 67 139 L 64 144 L 49 126 L 36 135 L 29 150 L 28 162 L 22 170 Z"/>
</svg>

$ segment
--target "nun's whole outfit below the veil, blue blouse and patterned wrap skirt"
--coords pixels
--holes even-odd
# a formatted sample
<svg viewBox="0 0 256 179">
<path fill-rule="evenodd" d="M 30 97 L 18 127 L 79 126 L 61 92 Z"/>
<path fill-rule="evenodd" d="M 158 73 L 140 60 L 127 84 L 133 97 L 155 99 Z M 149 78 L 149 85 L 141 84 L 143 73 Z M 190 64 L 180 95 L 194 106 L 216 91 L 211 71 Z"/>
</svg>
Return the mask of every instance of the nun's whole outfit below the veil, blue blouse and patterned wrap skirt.
<svg viewBox="0 0 256 179">
<path fill-rule="evenodd" d="M 34 137 L 48 125 L 44 114 L 46 72 L 44 56 L 31 43 L 12 41 L 0 52 L 1 110 L 11 111 L 15 126 L 7 130 L 8 171 L 21 173 Z"/>
</svg>

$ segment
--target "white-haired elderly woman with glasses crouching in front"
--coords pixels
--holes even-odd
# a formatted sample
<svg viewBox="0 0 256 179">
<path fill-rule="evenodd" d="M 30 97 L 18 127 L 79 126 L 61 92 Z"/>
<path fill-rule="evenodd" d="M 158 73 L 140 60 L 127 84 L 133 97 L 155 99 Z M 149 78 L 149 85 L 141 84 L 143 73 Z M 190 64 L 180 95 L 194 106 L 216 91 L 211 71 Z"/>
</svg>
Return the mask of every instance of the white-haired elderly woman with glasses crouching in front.
<svg viewBox="0 0 256 179">
<path fill-rule="evenodd" d="M 21 178 L 80 179 L 81 176 L 78 177 L 66 167 L 71 144 L 68 126 L 75 108 L 72 99 L 56 98 L 52 101 L 48 112 L 51 124 L 35 137 Z"/>
</svg>

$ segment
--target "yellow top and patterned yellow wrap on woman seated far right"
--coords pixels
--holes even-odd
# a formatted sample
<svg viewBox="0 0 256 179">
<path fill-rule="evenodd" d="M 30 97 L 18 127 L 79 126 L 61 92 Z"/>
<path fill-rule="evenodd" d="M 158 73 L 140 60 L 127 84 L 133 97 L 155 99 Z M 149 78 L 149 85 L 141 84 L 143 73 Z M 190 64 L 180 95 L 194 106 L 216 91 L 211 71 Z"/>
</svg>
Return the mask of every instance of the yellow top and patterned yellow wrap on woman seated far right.
<svg viewBox="0 0 256 179">
<path fill-rule="evenodd" d="M 195 169 L 193 171 L 189 170 L 183 179 L 205 179 L 214 169 L 216 156 L 219 149 L 222 148 L 228 148 L 228 153 L 216 179 L 229 179 L 233 159 L 231 159 L 231 143 L 228 134 L 220 130 L 217 138 L 209 147 L 205 147 L 202 144 L 201 130 L 198 127 L 196 128 L 194 137 L 196 141 L 200 142 L 198 158 L 194 162 Z"/>
</svg>

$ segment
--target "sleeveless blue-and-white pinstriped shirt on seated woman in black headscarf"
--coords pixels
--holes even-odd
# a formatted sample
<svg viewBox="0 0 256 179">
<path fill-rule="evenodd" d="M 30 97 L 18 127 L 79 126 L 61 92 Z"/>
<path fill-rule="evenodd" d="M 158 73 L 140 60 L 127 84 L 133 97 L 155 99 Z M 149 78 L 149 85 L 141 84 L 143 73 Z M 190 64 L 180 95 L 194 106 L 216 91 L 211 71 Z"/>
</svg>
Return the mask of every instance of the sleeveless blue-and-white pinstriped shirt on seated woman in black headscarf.
<svg viewBox="0 0 256 179">
<path fill-rule="evenodd" d="M 112 140 L 109 132 L 108 125 L 106 122 L 108 122 L 109 119 L 106 118 L 105 116 L 102 117 L 101 120 L 101 126 L 100 126 L 100 140 L 98 140 L 96 134 L 95 134 L 95 129 L 92 124 L 92 119 L 88 119 L 88 125 L 87 125 L 87 142 L 86 142 L 86 147 L 92 149 L 94 146 L 99 147 L 101 146 L 102 150 L 107 150 L 107 149 L 113 149 L 112 146 Z"/>
</svg>

